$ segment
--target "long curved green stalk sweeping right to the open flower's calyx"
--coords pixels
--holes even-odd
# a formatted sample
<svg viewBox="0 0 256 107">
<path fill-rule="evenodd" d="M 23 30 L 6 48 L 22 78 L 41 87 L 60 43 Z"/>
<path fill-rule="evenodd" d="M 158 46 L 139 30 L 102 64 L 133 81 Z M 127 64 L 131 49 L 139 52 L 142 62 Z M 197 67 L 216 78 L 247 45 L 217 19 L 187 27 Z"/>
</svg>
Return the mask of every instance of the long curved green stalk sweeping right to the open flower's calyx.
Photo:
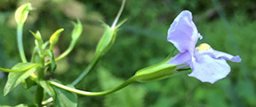
<svg viewBox="0 0 256 107">
<path fill-rule="evenodd" d="M 105 95 L 114 93 L 117 90 L 120 90 L 120 89 L 126 87 L 127 85 L 131 84 L 133 81 L 134 81 L 133 78 L 130 78 L 129 80 L 124 81 L 124 83 L 119 85 L 118 87 L 110 89 L 108 91 L 102 91 L 102 92 L 88 92 L 88 91 L 83 91 L 83 90 L 79 90 L 79 89 L 76 89 L 76 88 L 69 88 L 67 86 L 64 86 L 64 85 L 62 85 L 60 83 L 57 83 L 57 82 L 54 82 L 54 81 L 50 81 L 50 83 L 52 85 L 58 87 L 58 88 L 65 89 L 65 90 L 68 90 L 70 92 L 76 93 L 78 95 L 82 95 L 82 96 L 105 96 Z"/>
</svg>

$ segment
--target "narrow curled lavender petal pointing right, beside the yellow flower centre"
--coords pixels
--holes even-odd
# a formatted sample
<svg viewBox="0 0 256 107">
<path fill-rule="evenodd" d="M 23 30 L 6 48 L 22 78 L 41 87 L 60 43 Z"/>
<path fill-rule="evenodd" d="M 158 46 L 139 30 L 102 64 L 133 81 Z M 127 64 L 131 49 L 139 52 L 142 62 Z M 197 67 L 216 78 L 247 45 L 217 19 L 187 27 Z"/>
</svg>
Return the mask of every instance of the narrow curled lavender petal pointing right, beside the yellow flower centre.
<svg viewBox="0 0 256 107">
<path fill-rule="evenodd" d="M 239 56 L 232 56 L 228 53 L 218 51 L 218 50 L 213 50 L 213 49 L 210 49 L 210 50 L 204 52 L 204 54 L 208 54 L 208 55 L 210 55 L 211 57 L 214 57 L 214 58 L 224 58 L 226 60 L 236 62 L 236 63 L 239 63 L 239 62 L 242 61 L 241 57 L 239 57 Z"/>
</svg>

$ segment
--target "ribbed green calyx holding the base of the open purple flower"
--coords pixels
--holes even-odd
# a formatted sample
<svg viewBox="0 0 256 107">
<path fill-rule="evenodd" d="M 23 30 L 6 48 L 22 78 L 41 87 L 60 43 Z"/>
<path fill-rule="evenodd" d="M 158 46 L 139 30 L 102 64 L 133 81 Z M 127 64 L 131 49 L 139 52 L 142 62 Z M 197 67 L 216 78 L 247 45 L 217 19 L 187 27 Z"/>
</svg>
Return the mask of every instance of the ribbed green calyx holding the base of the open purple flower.
<svg viewBox="0 0 256 107">
<path fill-rule="evenodd" d="M 169 55 L 169 57 L 166 57 L 164 61 L 156 65 L 150 65 L 146 68 L 140 69 L 132 78 L 136 81 L 146 82 L 150 80 L 162 80 L 178 74 L 179 72 L 176 71 L 176 67 L 180 65 L 168 64 L 171 58 L 171 55 Z"/>
</svg>

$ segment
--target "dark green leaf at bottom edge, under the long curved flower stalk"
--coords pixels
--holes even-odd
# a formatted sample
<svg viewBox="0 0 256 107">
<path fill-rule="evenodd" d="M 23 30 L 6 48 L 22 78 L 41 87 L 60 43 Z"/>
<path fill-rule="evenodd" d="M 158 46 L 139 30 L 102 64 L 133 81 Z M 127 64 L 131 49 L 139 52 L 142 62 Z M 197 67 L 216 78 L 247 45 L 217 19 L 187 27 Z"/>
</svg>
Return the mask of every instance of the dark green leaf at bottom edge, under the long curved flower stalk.
<svg viewBox="0 0 256 107">
<path fill-rule="evenodd" d="M 71 86 L 70 86 L 71 87 Z M 56 96 L 54 99 L 54 104 L 56 107 L 76 107 L 77 106 L 77 96 L 67 90 L 53 87 Z M 71 87 L 74 88 L 74 87 Z"/>
</svg>

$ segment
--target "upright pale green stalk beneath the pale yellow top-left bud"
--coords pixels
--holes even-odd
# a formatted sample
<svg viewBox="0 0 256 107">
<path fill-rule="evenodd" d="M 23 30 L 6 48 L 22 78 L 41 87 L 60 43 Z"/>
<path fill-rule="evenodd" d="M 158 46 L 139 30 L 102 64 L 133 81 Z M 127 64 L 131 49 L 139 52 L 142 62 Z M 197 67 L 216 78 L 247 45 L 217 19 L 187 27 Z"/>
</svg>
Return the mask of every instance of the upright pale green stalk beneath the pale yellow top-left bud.
<svg viewBox="0 0 256 107">
<path fill-rule="evenodd" d="M 20 51 L 20 57 L 23 63 L 27 63 L 27 58 L 25 56 L 25 52 L 23 49 L 23 42 L 22 42 L 22 28 L 23 28 L 23 24 L 18 24 L 18 28 L 17 28 L 17 41 L 18 41 L 18 48 Z"/>
</svg>

